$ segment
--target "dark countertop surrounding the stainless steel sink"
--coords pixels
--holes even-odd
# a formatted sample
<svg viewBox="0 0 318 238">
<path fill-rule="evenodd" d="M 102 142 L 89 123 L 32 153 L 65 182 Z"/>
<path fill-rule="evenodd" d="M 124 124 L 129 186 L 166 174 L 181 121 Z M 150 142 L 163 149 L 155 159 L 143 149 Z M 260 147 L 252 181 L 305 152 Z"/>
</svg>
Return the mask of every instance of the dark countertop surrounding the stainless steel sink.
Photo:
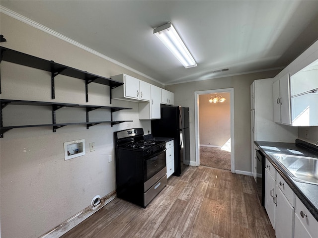
<svg viewBox="0 0 318 238">
<path fill-rule="evenodd" d="M 300 152 L 302 153 L 301 156 L 318 158 L 318 153 L 314 150 L 296 145 L 295 143 L 268 141 L 254 141 L 254 143 L 318 221 L 318 185 L 295 181 L 285 172 L 284 167 L 282 167 L 272 156 L 272 154 L 277 153 L 295 155 L 293 151 L 296 151 L 296 155 L 299 154 L 297 152 Z"/>
</svg>

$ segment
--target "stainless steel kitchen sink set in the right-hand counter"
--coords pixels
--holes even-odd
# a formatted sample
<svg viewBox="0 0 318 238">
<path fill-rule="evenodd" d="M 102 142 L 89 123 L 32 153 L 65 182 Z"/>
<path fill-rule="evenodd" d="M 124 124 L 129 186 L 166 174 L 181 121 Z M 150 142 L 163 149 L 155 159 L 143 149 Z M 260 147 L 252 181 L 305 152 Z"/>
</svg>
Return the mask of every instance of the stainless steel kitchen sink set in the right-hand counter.
<svg viewBox="0 0 318 238">
<path fill-rule="evenodd" d="M 283 154 L 273 157 L 286 168 L 292 179 L 318 185 L 318 158 Z"/>
</svg>

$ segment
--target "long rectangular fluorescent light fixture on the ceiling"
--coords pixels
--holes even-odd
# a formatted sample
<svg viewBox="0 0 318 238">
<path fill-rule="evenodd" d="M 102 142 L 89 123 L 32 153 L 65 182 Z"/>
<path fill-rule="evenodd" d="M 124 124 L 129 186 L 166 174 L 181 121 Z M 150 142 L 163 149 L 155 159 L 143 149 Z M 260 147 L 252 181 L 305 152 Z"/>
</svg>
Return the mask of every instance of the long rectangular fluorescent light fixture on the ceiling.
<svg viewBox="0 0 318 238">
<path fill-rule="evenodd" d="M 184 45 L 180 36 L 172 26 L 171 22 L 154 29 L 154 34 L 171 51 L 171 53 L 183 64 L 185 68 L 197 66 L 189 50 Z"/>
</svg>

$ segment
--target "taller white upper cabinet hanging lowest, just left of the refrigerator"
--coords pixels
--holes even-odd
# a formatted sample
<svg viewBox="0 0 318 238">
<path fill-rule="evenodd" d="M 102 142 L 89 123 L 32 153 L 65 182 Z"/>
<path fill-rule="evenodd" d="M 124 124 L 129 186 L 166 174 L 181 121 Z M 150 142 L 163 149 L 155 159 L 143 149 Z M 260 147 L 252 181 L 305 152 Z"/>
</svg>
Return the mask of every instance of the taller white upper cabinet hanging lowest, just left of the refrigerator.
<svg viewBox="0 0 318 238">
<path fill-rule="evenodd" d="M 139 103 L 139 119 L 160 119 L 160 94 L 159 87 L 151 85 L 151 101 L 149 103 Z"/>
</svg>

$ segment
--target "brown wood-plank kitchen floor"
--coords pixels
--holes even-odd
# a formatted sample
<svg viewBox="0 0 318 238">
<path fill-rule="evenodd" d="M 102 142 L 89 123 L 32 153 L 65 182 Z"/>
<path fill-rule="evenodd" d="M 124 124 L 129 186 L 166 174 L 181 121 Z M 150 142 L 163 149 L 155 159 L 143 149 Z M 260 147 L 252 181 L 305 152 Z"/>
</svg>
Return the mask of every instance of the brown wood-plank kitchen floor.
<svg viewBox="0 0 318 238">
<path fill-rule="evenodd" d="M 62 238 L 275 238 L 252 179 L 189 167 L 146 209 L 115 198 Z"/>
</svg>

